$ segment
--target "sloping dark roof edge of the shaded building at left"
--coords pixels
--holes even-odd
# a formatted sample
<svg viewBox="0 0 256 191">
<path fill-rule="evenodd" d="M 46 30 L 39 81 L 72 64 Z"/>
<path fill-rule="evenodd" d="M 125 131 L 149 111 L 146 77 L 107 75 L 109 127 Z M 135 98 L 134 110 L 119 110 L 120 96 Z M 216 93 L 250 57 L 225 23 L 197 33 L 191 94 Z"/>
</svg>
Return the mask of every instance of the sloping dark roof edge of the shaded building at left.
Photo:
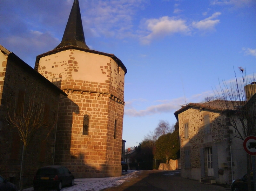
<svg viewBox="0 0 256 191">
<path fill-rule="evenodd" d="M 0 50 L 2 52 L 4 52 L 4 54 L 7 54 L 9 59 L 13 59 L 17 65 L 19 65 L 20 67 L 24 68 L 28 73 L 30 73 L 31 75 L 35 76 L 40 81 L 46 83 L 48 86 L 50 86 L 50 87 L 54 88 L 55 90 L 59 91 L 59 93 L 61 93 L 62 95 L 67 96 L 67 94 L 64 93 L 60 88 L 58 88 L 52 82 L 50 82 L 45 77 L 43 77 L 41 74 L 36 72 L 31 66 L 29 66 L 27 63 L 25 63 L 23 60 L 21 60 L 18 56 L 16 56 L 16 54 L 14 54 L 13 52 L 8 51 L 2 45 L 0 45 Z"/>
</svg>

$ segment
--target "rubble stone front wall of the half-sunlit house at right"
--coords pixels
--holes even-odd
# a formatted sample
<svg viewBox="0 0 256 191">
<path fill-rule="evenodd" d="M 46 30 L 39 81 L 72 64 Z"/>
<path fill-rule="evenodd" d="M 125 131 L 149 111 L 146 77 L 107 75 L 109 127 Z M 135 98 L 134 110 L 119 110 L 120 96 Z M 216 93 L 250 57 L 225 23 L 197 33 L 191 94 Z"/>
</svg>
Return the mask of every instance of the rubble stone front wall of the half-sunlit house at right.
<svg viewBox="0 0 256 191">
<path fill-rule="evenodd" d="M 211 135 L 206 139 L 204 134 L 203 116 L 209 115 Z M 180 144 L 181 144 L 181 166 L 184 167 L 184 147 L 190 146 L 190 162 L 191 168 L 200 168 L 200 148 L 205 142 L 221 142 L 224 141 L 224 134 L 227 134 L 225 125 L 225 115 L 219 112 L 203 111 L 199 108 L 190 108 L 178 115 L 180 128 Z M 189 123 L 189 140 L 184 139 L 184 121 Z M 187 121 L 186 121 L 187 123 Z M 198 162 L 199 161 L 199 162 Z"/>
</svg>

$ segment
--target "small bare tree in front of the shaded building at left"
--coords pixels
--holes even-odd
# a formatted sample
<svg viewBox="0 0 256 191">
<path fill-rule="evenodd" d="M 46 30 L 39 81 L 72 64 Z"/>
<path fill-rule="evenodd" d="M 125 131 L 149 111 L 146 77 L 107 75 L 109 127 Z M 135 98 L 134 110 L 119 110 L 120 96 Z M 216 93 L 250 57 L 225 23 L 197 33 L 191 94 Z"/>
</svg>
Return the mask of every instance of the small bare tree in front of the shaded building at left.
<svg viewBox="0 0 256 191">
<path fill-rule="evenodd" d="M 23 142 L 20 190 L 23 189 L 23 167 L 25 164 L 27 147 L 33 144 L 40 144 L 45 141 L 56 124 L 55 113 L 49 113 L 47 108 L 46 93 L 35 91 L 32 95 L 23 91 L 19 92 L 16 101 L 7 101 L 7 120 L 13 128 L 18 130 Z M 53 114 L 53 116 L 50 116 Z"/>
</svg>

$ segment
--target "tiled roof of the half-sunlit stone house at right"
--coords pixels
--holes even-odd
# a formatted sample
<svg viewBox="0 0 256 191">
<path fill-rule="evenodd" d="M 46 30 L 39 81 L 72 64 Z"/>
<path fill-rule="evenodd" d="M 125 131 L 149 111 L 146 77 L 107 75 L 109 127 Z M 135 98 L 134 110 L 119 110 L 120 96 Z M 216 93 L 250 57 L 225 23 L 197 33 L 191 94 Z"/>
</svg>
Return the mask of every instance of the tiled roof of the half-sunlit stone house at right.
<svg viewBox="0 0 256 191">
<path fill-rule="evenodd" d="M 225 101 L 225 100 L 214 100 L 206 103 L 189 103 L 185 106 L 182 106 L 181 109 L 174 112 L 176 119 L 178 120 L 178 114 L 188 110 L 191 107 L 209 109 L 214 111 L 234 111 L 241 105 L 244 105 L 244 102 L 241 101 Z"/>
</svg>

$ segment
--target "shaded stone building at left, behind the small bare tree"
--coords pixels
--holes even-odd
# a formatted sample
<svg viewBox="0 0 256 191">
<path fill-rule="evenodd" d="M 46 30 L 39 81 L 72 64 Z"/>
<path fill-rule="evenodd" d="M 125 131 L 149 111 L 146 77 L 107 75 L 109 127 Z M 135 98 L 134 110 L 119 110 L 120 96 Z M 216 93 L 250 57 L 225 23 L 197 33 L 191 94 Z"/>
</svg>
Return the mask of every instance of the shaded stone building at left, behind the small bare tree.
<svg viewBox="0 0 256 191">
<path fill-rule="evenodd" d="M 49 123 L 52 125 L 50 126 L 52 131 L 48 138 L 43 141 L 46 136 L 36 137 L 27 148 L 24 164 L 25 184 L 31 185 L 35 171 L 39 167 L 53 164 L 59 97 L 60 94 L 62 96 L 66 94 L 1 45 L 0 63 L 0 172 L 2 176 L 19 185 L 23 142 L 18 129 L 11 127 L 9 118 L 16 115 L 22 122 L 22 116 L 32 111 L 27 110 L 26 106 L 36 107 L 36 104 L 40 104 L 42 112 L 38 116 L 41 115 L 45 120 L 53 122 Z M 33 102 L 31 98 L 39 102 Z"/>
</svg>

